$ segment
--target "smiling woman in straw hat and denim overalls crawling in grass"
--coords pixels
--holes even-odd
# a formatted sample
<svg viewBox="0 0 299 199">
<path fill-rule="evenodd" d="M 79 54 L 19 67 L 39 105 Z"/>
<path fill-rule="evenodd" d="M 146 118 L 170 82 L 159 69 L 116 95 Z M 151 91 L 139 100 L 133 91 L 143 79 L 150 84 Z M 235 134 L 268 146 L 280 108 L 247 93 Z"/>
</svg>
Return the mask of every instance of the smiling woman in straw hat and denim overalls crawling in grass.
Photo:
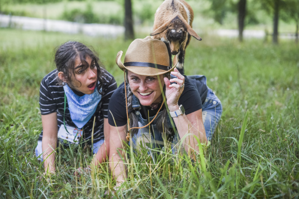
<svg viewBox="0 0 299 199">
<path fill-rule="evenodd" d="M 163 41 L 135 39 L 124 63 L 122 54 L 118 52 L 116 63 L 125 81 L 113 93 L 108 111 L 109 161 L 117 187 L 127 178 L 126 158 L 121 155 L 125 150 L 118 150 L 124 149 L 123 142 L 129 141 L 135 152 L 145 149 L 154 163 L 157 151 L 168 146 L 173 155 L 187 153 L 194 159 L 199 142 L 211 139 L 222 114 L 221 102 L 207 87 L 205 76 L 181 75 L 176 56 L 170 66 Z"/>
</svg>

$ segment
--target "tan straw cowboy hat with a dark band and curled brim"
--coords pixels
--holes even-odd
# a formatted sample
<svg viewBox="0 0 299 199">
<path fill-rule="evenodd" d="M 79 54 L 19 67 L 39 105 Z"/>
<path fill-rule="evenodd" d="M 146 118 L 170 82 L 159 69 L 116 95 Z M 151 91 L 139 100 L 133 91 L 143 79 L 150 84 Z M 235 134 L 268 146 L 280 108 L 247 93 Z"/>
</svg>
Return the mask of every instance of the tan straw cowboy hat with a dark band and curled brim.
<svg viewBox="0 0 299 199">
<path fill-rule="evenodd" d="M 147 36 L 144 39 L 135 39 L 129 45 L 124 63 L 121 62 L 123 51 L 116 56 L 116 64 L 121 70 L 129 70 L 138 75 L 155 76 L 173 71 L 178 63 L 175 55 L 173 67 L 169 64 L 169 55 L 165 43 Z"/>
</svg>

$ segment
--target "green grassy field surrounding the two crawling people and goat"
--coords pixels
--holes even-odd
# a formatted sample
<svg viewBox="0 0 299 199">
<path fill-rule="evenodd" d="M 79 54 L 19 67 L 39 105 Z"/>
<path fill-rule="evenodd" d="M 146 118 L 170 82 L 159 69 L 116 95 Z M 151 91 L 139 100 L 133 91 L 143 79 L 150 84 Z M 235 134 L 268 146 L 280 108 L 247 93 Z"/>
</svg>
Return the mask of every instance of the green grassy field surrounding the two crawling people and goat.
<svg viewBox="0 0 299 199">
<path fill-rule="evenodd" d="M 92 44 L 119 85 L 123 73 L 115 57 L 130 41 L 0 33 L 0 198 L 103 198 L 115 183 L 108 164 L 81 178 L 73 175 L 91 161 L 88 148 L 60 148 L 57 175 L 38 179 L 44 170 L 34 153 L 42 129 L 39 85 L 55 68 L 54 49 L 71 39 Z M 205 159 L 179 157 L 171 164 L 171 155 L 163 153 L 154 164 L 132 155 L 129 181 L 115 198 L 298 198 L 298 45 L 201 36 L 187 48 L 185 71 L 206 75 L 223 105 Z"/>
</svg>

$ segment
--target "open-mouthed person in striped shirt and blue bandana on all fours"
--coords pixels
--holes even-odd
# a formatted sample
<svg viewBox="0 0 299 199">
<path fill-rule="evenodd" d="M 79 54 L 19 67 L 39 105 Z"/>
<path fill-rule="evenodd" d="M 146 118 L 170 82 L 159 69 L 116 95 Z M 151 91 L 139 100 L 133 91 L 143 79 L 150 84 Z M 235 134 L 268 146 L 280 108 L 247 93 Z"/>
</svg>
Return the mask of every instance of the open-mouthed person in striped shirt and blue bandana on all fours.
<svg viewBox="0 0 299 199">
<path fill-rule="evenodd" d="M 96 153 L 94 164 L 109 155 L 108 104 L 117 84 L 84 44 L 68 41 L 55 53 L 56 69 L 40 85 L 42 132 L 35 152 L 44 161 L 45 174 L 55 173 L 58 142 L 88 145 Z M 106 142 L 105 142 L 106 140 Z M 89 167 L 79 168 L 88 170 Z"/>
</svg>

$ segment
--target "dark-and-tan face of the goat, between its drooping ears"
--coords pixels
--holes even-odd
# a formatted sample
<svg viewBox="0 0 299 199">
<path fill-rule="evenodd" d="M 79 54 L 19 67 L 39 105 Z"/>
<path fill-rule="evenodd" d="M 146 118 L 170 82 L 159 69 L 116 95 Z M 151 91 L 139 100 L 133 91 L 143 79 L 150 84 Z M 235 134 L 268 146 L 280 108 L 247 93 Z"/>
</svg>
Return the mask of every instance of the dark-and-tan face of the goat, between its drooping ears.
<svg viewBox="0 0 299 199">
<path fill-rule="evenodd" d="M 187 37 L 187 31 L 184 28 L 168 29 L 166 32 L 166 38 L 170 43 L 171 54 L 176 55 L 179 53 L 181 44 Z"/>
</svg>

